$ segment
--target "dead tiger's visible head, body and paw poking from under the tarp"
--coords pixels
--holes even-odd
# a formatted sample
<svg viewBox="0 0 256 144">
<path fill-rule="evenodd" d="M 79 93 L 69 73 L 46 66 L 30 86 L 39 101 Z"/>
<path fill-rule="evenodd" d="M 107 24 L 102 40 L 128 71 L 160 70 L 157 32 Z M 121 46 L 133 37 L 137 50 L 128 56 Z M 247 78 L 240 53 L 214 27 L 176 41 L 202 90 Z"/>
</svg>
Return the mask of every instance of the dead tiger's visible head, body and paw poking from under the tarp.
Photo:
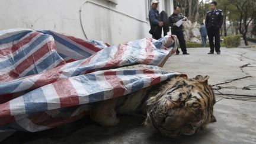
<svg viewBox="0 0 256 144">
<path fill-rule="evenodd" d="M 155 127 L 164 136 L 193 135 L 216 121 L 213 116 L 215 94 L 207 84 L 208 79 L 209 76 L 201 75 L 192 79 L 176 76 L 152 88 L 101 101 L 92 107 L 91 118 L 101 126 L 114 126 L 119 123 L 116 113 L 143 111 L 145 125 Z"/>
</svg>

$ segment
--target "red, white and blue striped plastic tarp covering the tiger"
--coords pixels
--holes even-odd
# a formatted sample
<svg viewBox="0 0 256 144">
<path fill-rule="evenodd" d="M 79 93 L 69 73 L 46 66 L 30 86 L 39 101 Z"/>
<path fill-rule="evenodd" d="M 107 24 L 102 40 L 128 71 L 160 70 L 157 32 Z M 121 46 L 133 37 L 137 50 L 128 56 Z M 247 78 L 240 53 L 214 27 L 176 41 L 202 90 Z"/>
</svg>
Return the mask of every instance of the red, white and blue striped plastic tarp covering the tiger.
<svg viewBox="0 0 256 144">
<path fill-rule="evenodd" d="M 178 72 L 161 66 L 170 36 L 109 46 L 54 31 L 0 31 L 0 129 L 38 132 L 81 119 L 91 104 L 136 92 Z"/>
</svg>

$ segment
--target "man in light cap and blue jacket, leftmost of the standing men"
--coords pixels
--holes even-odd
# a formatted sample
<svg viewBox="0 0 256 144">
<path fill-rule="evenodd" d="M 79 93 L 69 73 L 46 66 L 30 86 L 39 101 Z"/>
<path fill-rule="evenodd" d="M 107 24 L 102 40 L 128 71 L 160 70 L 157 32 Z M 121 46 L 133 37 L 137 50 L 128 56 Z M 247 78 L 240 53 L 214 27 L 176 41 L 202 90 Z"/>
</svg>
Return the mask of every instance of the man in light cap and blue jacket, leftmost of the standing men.
<svg viewBox="0 0 256 144">
<path fill-rule="evenodd" d="M 159 21 L 159 12 L 156 9 L 158 7 L 158 1 L 151 1 L 151 10 L 149 11 L 149 22 L 151 24 L 151 30 L 149 33 L 152 34 L 153 39 L 160 39 L 162 37 L 162 26 L 164 22 Z"/>
</svg>

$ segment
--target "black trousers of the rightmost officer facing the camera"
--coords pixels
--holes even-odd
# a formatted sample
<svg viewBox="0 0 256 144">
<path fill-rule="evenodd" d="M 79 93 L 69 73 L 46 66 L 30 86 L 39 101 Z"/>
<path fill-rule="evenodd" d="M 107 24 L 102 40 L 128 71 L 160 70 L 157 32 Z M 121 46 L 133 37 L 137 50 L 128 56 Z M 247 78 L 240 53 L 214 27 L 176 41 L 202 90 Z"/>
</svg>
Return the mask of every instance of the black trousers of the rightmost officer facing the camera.
<svg viewBox="0 0 256 144">
<path fill-rule="evenodd" d="M 210 27 L 207 29 L 209 44 L 210 44 L 210 52 L 220 52 L 220 30 L 219 28 Z M 213 39 L 215 40 L 213 42 Z"/>
</svg>

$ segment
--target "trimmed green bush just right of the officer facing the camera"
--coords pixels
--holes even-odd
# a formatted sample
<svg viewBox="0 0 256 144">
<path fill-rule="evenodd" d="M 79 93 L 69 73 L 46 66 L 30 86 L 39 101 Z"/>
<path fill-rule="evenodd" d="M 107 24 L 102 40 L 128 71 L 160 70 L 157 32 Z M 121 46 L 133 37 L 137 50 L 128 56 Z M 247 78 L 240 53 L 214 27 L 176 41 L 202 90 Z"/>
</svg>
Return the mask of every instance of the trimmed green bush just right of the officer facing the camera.
<svg viewBox="0 0 256 144">
<path fill-rule="evenodd" d="M 231 35 L 224 37 L 224 44 L 226 47 L 239 47 L 241 39 L 239 35 Z"/>
</svg>

